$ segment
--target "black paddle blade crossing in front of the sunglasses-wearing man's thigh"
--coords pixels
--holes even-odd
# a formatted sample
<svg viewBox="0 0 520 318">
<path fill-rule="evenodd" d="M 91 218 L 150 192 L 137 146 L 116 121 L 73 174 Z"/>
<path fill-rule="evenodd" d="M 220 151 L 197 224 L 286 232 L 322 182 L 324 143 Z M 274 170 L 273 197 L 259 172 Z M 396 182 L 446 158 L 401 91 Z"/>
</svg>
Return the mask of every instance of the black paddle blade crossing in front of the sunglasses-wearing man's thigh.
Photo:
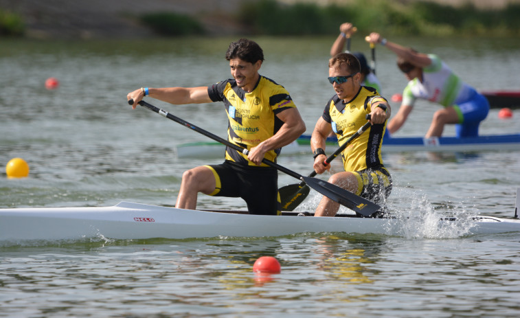
<svg viewBox="0 0 520 318">
<path fill-rule="evenodd" d="M 330 200 L 336 201 L 362 216 L 372 216 L 372 214 L 381 209 L 381 207 L 376 205 L 376 203 L 368 201 L 366 198 L 361 198 L 361 196 L 357 196 L 352 192 L 339 188 L 337 185 L 333 185 L 332 183 L 310 177 L 302 177 L 302 179 L 310 188 L 313 188 L 317 192 L 330 198 Z"/>
</svg>

